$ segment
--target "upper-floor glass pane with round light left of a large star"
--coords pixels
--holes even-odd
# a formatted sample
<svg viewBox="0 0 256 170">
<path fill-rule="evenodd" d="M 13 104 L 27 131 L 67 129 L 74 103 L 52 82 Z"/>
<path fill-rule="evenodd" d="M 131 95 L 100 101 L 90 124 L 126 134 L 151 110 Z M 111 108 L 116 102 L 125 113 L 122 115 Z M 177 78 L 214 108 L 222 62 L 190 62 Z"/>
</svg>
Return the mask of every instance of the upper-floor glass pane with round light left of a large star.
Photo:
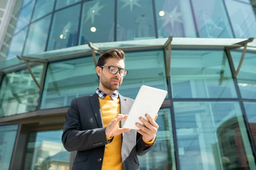
<svg viewBox="0 0 256 170">
<path fill-rule="evenodd" d="M 158 37 L 196 37 L 189 0 L 156 0 Z"/>
</svg>

